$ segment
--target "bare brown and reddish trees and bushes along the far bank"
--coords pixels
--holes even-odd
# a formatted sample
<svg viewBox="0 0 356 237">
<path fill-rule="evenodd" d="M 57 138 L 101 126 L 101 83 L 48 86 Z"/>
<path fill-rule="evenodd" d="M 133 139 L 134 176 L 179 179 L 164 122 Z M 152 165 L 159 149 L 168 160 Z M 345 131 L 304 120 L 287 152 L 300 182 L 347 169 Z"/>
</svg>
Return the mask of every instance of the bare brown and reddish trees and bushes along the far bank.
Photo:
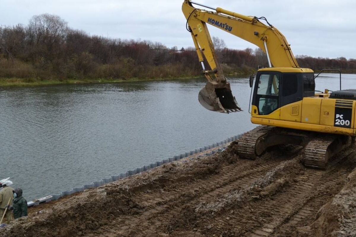
<svg viewBox="0 0 356 237">
<path fill-rule="evenodd" d="M 226 48 L 213 38 L 226 75 L 244 76 L 267 66 L 262 50 Z M 192 42 L 193 44 L 193 42 Z M 299 56 L 302 67 L 356 72 L 356 59 Z M 205 63 L 206 64 L 206 63 Z M 207 65 L 207 64 L 206 64 Z M 0 26 L 0 77 L 41 80 L 127 80 L 192 77 L 201 74 L 194 48 L 158 42 L 90 36 L 56 15 L 33 16 L 27 26 Z"/>
</svg>

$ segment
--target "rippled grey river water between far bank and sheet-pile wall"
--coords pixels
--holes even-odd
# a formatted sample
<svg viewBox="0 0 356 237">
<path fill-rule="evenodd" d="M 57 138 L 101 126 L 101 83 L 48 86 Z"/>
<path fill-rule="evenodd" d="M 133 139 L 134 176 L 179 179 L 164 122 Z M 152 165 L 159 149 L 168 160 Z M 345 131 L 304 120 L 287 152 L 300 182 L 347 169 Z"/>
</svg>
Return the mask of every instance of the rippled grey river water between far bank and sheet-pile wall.
<svg viewBox="0 0 356 237">
<path fill-rule="evenodd" d="M 342 75 L 343 89 L 356 75 Z M 248 79 L 230 78 L 244 112 L 200 106 L 205 79 L 0 87 L 0 178 L 30 201 L 251 130 Z M 316 90 L 339 89 L 336 74 Z"/>
</svg>

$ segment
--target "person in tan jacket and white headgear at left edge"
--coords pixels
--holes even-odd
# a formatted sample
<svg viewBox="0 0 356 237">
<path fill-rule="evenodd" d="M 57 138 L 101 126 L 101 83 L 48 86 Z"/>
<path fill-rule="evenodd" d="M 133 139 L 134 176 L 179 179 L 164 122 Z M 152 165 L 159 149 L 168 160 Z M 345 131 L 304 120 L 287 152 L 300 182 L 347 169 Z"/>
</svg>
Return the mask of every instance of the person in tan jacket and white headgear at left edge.
<svg viewBox="0 0 356 237">
<path fill-rule="evenodd" d="M 1 183 L 0 185 L 2 186 L 2 189 L 0 191 L 0 216 L 2 216 L 2 215 L 4 215 L 7 204 L 8 203 L 11 204 L 12 199 L 14 199 L 14 193 L 12 192 L 12 190 L 14 190 L 14 189 L 9 186 L 12 184 L 12 182 L 9 180 L 9 178 L 2 179 L 0 181 L 0 183 Z M 12 220 L 11 211 L 6 210 L 6 214 L 5 214 L 4 220 L 2 220 L 2 223 L 9 224 L 11 220 Z"/>
</svg>

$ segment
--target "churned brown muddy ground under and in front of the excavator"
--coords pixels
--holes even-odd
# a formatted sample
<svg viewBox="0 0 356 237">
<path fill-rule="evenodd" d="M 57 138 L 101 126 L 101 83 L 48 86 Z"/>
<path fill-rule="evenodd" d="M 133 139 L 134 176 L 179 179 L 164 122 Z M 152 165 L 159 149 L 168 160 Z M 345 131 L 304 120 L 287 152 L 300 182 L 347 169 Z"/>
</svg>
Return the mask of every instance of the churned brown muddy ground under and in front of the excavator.
<svg viewBox="0 0 356 237">
<path fill-rule="evenodd" d="M 325 171 L 300 147 L 257 160 L 236 147 L 29 209 L 0 236 L 356 236 L 355 147 Z"/>
</svg>

